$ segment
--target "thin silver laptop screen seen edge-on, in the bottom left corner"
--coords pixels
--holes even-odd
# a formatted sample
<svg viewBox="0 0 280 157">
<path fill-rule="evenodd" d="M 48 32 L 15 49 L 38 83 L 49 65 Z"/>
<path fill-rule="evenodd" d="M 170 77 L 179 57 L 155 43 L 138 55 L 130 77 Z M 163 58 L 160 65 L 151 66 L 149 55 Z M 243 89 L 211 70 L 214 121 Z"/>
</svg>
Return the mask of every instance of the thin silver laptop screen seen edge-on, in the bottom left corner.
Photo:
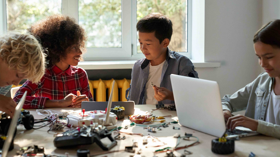
<svg viewBox="0 0 280 157">
<path fill-rule="evenodd" d="M 20 99 L 20 102 L 17 104 L 17 107 L 15 108 L 14 116 L 12 118 L 9 130 L 8 130 L 8 133 L 7 133 L 7 138 L 6 138 L 6 140 L 4 142 L 4 145 L 3 145 L 2 154 L 0 155 L 2 157 L 7 156 L 8 150 L 9 150 L 10 145 L 11 145 L 11 141 L 13 139 L 13 134 L 15 133 L 15 130 L 16 130 L 16 127 L 17 127 L 18 117 L 20 115 L 20 111 L 21 111 L 22 106 L 23 106 L 24 101 L 25 101 L 26 94 L 27 94 L 27 91 L 24 92 L 24 95 L 22 96 L 22 98 Z"/>
</svg>

